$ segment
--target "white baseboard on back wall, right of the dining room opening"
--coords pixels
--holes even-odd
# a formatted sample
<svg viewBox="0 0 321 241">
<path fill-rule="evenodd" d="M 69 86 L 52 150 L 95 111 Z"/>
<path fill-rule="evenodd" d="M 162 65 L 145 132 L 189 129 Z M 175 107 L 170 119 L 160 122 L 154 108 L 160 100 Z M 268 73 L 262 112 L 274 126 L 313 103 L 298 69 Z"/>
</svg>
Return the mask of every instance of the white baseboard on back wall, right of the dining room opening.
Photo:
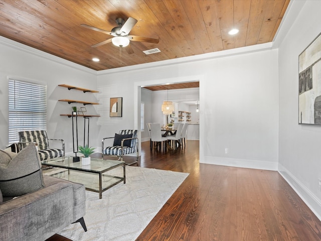
<svg viewBox="0 0 321 241">
<path fill-rule="evenodd" d="M 276 162 L 267 162 L 267 161 L 258 161 L 258 160 L 205 156 L 204 160 L 200 160 L 200 163 L 228 166 L 228 167 L 241 167 L 241 168 L 277 171 Z"/>
</svg>

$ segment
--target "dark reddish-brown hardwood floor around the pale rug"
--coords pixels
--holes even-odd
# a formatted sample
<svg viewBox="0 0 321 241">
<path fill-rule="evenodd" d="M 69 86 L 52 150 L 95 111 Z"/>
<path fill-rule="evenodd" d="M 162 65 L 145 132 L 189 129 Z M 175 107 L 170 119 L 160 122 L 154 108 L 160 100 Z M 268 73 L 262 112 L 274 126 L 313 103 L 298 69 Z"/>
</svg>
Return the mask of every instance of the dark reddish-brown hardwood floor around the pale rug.
<svg viewBox="0 0 321 241">
<path fill-rule="evenodd" d="M 144 142 L 138 166 L 190 175 L 136 240 L 321 240 L 321 222 L 278 172 L 200 164 L 198 141 L 166 153 Z"/>
</svg>

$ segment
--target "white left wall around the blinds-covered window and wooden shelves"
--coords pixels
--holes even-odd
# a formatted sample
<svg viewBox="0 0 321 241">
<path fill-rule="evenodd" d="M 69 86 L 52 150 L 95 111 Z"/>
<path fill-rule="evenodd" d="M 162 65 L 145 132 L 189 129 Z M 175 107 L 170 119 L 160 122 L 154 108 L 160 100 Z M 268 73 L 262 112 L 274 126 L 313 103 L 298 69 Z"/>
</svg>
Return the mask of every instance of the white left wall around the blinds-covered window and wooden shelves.
<svg viewBox="0 0 321 241">
<path fill-rule="evenodd" d="M 60 116 L 63 113 L 71 113 L 71 106 L 83 106 L 80 104 L 68 104 L 58 99 L 76 99 L 95 101 L 94 94 L 83 93 L 76 90 L 68 90 L 59 87 L 58 84 L 71 84 L 84 88 L 96 89 L 96 72 L 69 61 L 60 59 L 41 51 L 29 48 L 9 39 L 0 37 L 0 148 L 8 145 L 8 77 L 32 82 L 41 82 L 47 85 L 48 109 L 47 109 L 47 133 L 49 138 L 63 139 L 66 144 L 66 152 L 72 152 L 69 148 L 72 143 L 71 119 Z M 93 106 L 86 105 L 88 113 L 96 113 Z M 83 137 L 83 120 L 79 119 L 79 138 Z M 97 146 L 97 127 L 95 119 L 91 120 L 89 145 Z M 79 143 L 82 145 L 83 142 Z"/>
</svg>

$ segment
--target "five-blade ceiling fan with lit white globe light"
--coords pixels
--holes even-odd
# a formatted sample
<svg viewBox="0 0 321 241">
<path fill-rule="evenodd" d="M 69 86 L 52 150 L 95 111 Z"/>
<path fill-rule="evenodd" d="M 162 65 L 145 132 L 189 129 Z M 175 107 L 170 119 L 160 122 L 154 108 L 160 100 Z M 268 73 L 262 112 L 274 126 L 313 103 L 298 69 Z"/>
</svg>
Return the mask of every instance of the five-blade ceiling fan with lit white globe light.
<svg viewBox="0 0 321 241">
<path fill-rule="evenodd" d="M 147 42 L 147 43 L 154 43 L 157 44 L 159 42 L 159 39 L 152 39 L 152 38 L 146 38 L 146 37 L 140 37 L 140 36 L 135 36 L 135 35 L 128 35 L 129 32 L 132 30 L 134 25 L 137 23 L 137 20 L 134 18 L 129 17 L 127 21 L 125 22 L 123 19 L 118 18 L 116 19 L 116 23 L 118 27 L 114 27 L 111 32 L 103 30 L 103 29 L 98 29 L 86 24 L 81 24 L 80 26 L 104 33 L 113 36 L 111 39 L 107 39 L 105 41 L 102 41 L 98 44 L 95 44 L 91 46 L 92 48 L 99 47 L 101 45 L 107 44 L 112 42 L 114 45 L 118 47 L 126 47 L 129 44 L 129 41 L 138 41 L 138 42 Z"/>
</svg>

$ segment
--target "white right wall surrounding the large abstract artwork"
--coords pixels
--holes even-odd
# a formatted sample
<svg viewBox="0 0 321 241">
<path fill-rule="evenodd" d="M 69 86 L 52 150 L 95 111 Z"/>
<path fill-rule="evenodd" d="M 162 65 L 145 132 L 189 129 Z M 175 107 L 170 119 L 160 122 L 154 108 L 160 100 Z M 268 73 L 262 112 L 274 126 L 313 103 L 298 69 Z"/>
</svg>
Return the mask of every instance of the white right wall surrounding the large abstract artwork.
<svg viewBox="0 0 321 241">
<path fill-rule="evenodd" d="M 298 56 L 321 32 L 321 1 L 293 1 L 279 44 L 279 171 L 321 217 L 321 127 L 298 125 Z M 290 19 L 292 17 L 292 19 Z"/>
</svg>

